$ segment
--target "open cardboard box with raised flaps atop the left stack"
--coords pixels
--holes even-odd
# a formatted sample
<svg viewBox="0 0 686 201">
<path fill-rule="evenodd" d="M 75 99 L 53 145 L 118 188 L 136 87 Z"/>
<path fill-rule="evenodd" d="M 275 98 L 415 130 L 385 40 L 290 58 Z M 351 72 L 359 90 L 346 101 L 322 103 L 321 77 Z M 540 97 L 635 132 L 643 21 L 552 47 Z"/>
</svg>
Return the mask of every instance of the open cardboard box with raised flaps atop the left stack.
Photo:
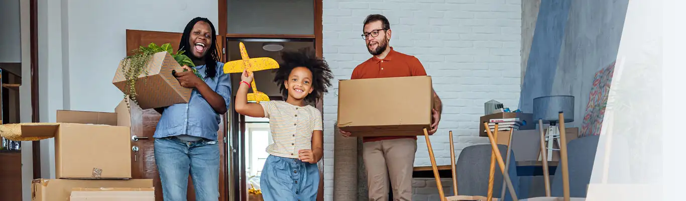
<svg viewBox="0 0 686 201">
<path fill-rule="evenodd" d="M 56 178 L 131 178 L 130 128 L 117 119 L 117 113 L 58 110 L 58 124 L 21 126 L 21 134 L 55 137 Z"/>
</svg>

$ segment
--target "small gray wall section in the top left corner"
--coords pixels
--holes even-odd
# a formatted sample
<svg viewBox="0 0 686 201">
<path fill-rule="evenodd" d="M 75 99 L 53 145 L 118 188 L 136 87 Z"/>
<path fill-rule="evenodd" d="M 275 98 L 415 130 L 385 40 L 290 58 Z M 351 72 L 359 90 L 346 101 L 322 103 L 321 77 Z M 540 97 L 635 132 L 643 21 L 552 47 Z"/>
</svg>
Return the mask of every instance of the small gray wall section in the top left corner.
<svg viewBox="0 0 686 201">
<path fill-rule="evenodd" d="M 21 62 L 19 0 L 3 0 L 0 3 L 0 19 L 0 63 Z"/>
</svg>

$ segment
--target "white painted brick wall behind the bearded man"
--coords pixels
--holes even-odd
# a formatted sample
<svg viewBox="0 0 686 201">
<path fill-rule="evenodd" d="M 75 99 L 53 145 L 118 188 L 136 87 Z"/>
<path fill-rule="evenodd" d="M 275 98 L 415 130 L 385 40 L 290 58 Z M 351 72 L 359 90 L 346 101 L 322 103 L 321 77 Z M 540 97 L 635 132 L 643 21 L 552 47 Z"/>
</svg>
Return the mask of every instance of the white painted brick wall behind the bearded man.
<svg viewBox="0 0 686 201">
<path fill-rule="evenodd" d="M 355 66 L 371 56 L 360 37 L 368 14 L 388 17 L 393 30 L 390 45 L 419 58 L 434 78 L 444 105 L 439 130 L 431 137 L 438 165 L 450 164 L 449 130 L 455 135 L 456 155 L 464 147 L 488 142 L 477 134 L 485 102 L 496 99 L 517 108 L 521 1 L 324 0 L 323 8 L 324 58 L 336 79 L 349 79 Z M 338 82 L 334 83 L 324 97 L 327 201 L 333 200 L 333 129 L 338 104 Z M 417 143 L 414 165 L 431 165 L 423 137 Z M 443 183 L 451 186 L 450 180 Z M 413 200 L 438 200 L 434 198 L 438 194 L 434 180 L 416 179 L 413 186 Z"/>
</svg>

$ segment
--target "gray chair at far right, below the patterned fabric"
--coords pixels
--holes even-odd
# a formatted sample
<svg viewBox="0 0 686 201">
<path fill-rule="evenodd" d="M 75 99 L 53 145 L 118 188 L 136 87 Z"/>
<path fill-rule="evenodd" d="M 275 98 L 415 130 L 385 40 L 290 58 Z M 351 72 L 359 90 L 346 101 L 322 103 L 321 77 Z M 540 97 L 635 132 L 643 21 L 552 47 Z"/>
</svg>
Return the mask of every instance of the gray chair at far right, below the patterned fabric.
<svg viewBox="0 0 686 201">
<path fill-rule="evenodd" d="M 595 150 L 598 148 L 599 135 L 574 139 L 567 143 L 567 169 L 569 169 L 569 196 L 586 198 L 587 185 L 591 181 Z M 563 197 L 562 164 L 558 165 L 552 180 L 550 194 Z"/>
</svg>

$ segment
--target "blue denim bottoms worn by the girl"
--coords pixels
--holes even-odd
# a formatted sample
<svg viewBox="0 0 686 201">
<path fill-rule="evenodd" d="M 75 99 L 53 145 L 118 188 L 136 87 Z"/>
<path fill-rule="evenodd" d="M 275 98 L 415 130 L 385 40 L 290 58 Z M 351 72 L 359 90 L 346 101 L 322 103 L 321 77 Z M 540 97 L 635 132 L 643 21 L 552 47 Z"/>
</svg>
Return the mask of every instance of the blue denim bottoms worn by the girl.
<svg viewBox="0 0 686 201">
<path fill-rule="evenodd" d="M 319 188 L 317 164 L 269 155 L 259 181 L 265 201 L 314 201 Z"/>
</svg>

